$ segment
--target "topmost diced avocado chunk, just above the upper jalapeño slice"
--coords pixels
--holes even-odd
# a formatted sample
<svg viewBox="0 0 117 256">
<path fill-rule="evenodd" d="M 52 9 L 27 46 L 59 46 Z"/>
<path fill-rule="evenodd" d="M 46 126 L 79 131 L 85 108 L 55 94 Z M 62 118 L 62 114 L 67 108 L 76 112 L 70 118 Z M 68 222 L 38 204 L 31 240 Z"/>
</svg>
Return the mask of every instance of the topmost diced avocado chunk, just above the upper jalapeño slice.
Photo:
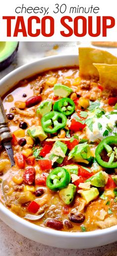
<svg viewBox="0 0 117 256">
<path fill-rule="evenodd" d="M 54 85 L 55 96 L 64 98 L 64 97 L 68 97 L 71 94 L 71 92 L 73 92 L 73 90 L 66 85 L 59 84 L 59 83 Z"/>
</svg>

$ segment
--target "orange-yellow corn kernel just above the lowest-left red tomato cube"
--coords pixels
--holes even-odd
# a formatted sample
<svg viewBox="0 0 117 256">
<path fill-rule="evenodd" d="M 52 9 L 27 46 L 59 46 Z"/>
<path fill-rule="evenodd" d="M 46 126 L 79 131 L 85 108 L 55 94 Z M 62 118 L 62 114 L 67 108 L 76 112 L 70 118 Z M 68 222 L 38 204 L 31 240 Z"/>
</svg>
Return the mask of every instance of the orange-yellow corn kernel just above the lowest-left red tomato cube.
<svg viewBox="0 0 117 256">
<path fill-rule="evenodd" d="M 26 192 L 20 193 L 18 202 L 20 204 L 25 204 L 29 201 L 33 201 L 34 199 L 35 199 L 35 196 L 30 191 L 26 191 Z"/>
</svg>

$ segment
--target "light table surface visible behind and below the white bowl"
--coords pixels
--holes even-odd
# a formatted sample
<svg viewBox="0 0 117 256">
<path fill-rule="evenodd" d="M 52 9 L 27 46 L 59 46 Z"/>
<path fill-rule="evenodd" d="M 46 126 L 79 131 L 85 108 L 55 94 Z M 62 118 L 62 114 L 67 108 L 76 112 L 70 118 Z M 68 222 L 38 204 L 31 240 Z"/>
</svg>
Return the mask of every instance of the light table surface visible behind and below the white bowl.
<svg viewBox="0 0 117 256">
<path fill-rule="evenodd" d="M 90 42 L 20 42 L 15 60 L 8 68 L 0 72 L 0 78 L 18 66 L 47 55 L 77 54 L 78 46 L 90 46 Z M 109 48 L 108 50 L 117 55 L 117 48 Z M 117 250 L 117 242 L 103 247 L 83 250 L 67 250 L 44 246 L 24 238 L 0 221 L 0 256 L 103 256 L 113 250 Z"/>
</svg>

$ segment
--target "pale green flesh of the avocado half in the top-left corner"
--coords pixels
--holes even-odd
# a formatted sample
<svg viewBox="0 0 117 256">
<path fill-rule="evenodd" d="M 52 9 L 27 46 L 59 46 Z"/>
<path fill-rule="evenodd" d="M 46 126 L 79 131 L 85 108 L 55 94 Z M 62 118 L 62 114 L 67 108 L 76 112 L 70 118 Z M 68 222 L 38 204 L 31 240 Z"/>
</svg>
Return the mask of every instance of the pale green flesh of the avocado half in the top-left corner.
<svg viewBox="0 0 117 256">
<path fill-rule="evenodd" d="M 0 42 L 0 71 L 11 64 L 18 50 L 19 42 Z"/>
</svg>

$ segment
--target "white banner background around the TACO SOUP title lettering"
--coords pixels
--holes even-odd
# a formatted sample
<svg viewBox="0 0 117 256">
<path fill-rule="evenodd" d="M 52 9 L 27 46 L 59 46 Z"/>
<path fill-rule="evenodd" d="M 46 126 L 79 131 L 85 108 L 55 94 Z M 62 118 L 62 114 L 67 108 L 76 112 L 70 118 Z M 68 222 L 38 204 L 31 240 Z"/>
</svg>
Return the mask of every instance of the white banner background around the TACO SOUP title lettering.
<svg viewBox="0 0 117 256">
<path fill-rule="evenodd" d="M 65 13 L 61 14 L 56 13 L 54 14 L 54 9 L 55 9 L 55 4 L 58 3 L 59 6 L 63 3 L 65 3 L 67 5 L 66 11 Z M 44 37 L 43 35 L 40 35 L 38 37 L 23 37 L 22 33 L 18 34 L 18 37 L 13 37 L 13 32 L 14 32 L 14 27 L 16 24 L 16 20 L 12 20 L 11 22 L 11 26 L 12 26 L 12 37 L 7 37 L 6 36 L 6 20 L 2 20 L 2 16 L 11 16 L 11 15 L 15 15 L 15 8 L 17 6 L 22 6 L 22 4 L 24 4 L 25 7 L 29 7 L 32 6 L 33 8 L 38 6 L 38 7 L 49 7 L 49 14 L 50 16 L 53 16 L 55 18 L 55 33 L 52 37 Z M 78 14 L 69 14 L 69 9 L 71 6 L 78 6 L 81 7 L 90 7 L 91 5 L 98 6 L 100 8 L 99 13 L 95 14 L 95 13 L 78 13 Z M 43 13 L 31 13 L 31 14 L 27 14 L 27 13 L 23 13 L 23 14 L 17 14 L 17 15 L 23 15 L 24 20 L 25 20 L 25 27 L 27 30 L 27 19 L 29 16 L 31 15 L 37 15 L 40 17 L 40 19 L 43 17 Z M 82 15 L 82 16 L 90 16 L 93 15 L 93 32 L 96 32 L 96 16 L 113 16 L 116 19 L 116 24 L 115 27 L 113 28 L 109 28 L 107 30 L 107 37 L 102 37 L 102 35 L 98 36 L 98 37 L 91 37 L 88 35 L 84 36 L 84 37 L 76 37 L 74 34 L 70 37 L 63 37 L 60 35 L 60 30 L 64 30 L 64 27 L 60 24 L 60 18 L 64 15 L 68 15 L 68 16 L 72 16 L 72 18 L 74 18 L 75 16 L 78 15 Z M 102 18 L 101 18 L 102 21 Z M 73 28 L 73 22 L 70 22 L 69 25 Z M 48 26 L 49 23 L 47 24 L 47 31 L 48 31 Z M 88 24 L 87 24 L 88 26 Z M 80 30 L 82 25 L 79 26 Z M 36 28 L 40 28 L 40 24 L 36 24 L 35 22 L 33 22 L 33 32 L 35 32 Z M 102 22 L 101 22 L 101 34 L 102 34 Z M 116 41 L 117 40 L 117 0 L 111 0 L 111 1 L 106 1 L 106 0 L 72 0 L 72 1 L 68 1 L 68 0 L 2 0 L 0 2 L 0 41 L 8 41 L 8 40 L 16 40 L 16 41 L 77 41 L 77 40 L 82 40 L 82 41 L 86 41 L 86 40 L 92 40 L 92 41 Z"/>
</svg>

